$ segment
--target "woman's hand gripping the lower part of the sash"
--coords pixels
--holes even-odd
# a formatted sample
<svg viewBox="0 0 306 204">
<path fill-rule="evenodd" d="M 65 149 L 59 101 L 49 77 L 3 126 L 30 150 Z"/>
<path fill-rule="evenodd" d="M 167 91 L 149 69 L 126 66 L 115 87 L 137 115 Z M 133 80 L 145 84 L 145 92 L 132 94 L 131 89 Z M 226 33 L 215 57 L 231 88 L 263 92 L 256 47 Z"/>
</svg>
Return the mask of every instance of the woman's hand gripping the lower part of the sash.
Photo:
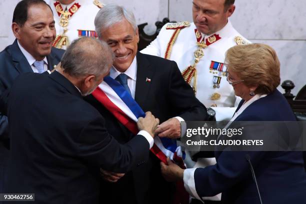
<svg viewBox="0 0 306 204">
<path fill-rule="evenodd" d="M 167 157 L 167 164 L 160 162 L 160 168 L 161 174 L 166 181 L 172 182 L 183 179 L 184 169 L 171 161 L 169 157 Z"/>
</svg>

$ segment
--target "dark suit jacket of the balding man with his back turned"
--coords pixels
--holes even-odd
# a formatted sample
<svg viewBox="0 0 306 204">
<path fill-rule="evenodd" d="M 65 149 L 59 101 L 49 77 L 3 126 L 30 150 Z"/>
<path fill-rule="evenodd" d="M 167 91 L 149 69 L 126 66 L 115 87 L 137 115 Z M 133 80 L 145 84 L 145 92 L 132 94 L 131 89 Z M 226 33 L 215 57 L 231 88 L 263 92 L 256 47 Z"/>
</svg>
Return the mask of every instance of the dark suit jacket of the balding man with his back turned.
<svg viewBox="0 0 306 204">
<path fill-rule="evenodd" d="M 38 203 L 98 203 L 99 167 L 125 172 L 148 158 L 142 135 L 119 144 L 101 114 L 57 71 L 20 75 L 7 106 L 7 192 L 35 193 Z"/>
</svg>

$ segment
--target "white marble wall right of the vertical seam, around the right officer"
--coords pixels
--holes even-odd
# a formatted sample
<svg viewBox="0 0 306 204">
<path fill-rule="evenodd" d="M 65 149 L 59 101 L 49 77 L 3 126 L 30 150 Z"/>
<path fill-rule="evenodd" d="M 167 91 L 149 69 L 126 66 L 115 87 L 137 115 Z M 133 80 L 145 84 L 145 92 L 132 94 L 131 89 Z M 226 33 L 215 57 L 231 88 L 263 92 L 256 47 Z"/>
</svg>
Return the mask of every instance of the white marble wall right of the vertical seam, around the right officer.
<svg viewBox="0 0 306 204">
<path fill-rule="evenodd" d="M 192 0 L 169 0 L 169 18 L 192 21 Z M 279 57 L 281 82 L 295 83 L 296 94 L 306 84 L 306 1 L 235 0 L 230 17 L 233 26 L 247 39 L 272 46 Z M 283 92 L 283 89 L 279 87 Z"/>
</svg>

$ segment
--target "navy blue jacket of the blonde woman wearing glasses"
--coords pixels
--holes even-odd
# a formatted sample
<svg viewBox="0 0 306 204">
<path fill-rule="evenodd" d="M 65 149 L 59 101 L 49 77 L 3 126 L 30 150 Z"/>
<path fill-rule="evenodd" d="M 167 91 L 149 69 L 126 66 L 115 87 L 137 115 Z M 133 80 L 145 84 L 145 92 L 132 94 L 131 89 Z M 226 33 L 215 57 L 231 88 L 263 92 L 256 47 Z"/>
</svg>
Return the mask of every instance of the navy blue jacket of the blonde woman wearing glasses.
<svg viewBox="0 0 306 204">
<path fill-rule="evenodd" d="M 242 103 L 243 100 L 237 109 Z M 278 90 L 251 103 L 235 119 L 295 120 L 289 104 Z M 282 130 L 290 131 L 286 127 Z M 215 151 L 217 164 L 197 168 L 194 172 L 195 188 L 199 196 L 212 196 L 222 192 L 221 200 L 224 203 L 260 203 L 246 154 L 251 157 L 263 203 L 304 202 L 306 173 L 300 151 Z"/>
</svg>

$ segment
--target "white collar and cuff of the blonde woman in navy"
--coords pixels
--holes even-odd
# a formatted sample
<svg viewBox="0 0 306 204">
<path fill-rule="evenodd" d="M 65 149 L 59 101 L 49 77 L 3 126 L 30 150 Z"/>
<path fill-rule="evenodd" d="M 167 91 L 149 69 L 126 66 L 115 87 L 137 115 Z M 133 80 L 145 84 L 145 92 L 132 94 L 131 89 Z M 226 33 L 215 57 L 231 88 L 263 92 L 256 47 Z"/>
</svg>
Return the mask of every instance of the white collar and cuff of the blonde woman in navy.
<svg viewBox="0 0 306 204">
<path fill-rule="evenodd" d="M 265 97 L 266 94 L 256 94 L 248 101 L 244 101 L 244 103 L 241 105 L 241 107 L 238 109 L 237 112 L 234 113 L 233 117 L 230 119 L 230 121 L 227 123 L 227 125 L 224 128 L 227 128 L 232 121 L 234 121 L 237 116 L 239 116 L 250 104 L 252 104 L 254 101 L 258 100 L 259 98 Z M 199 195 L 196 192 L 195 189 L 195 181 L 194 181 L 194 171 L 196 168 L 187 168 L 184 170 L 183 175 L 183 181 L 184 181 L 184 187 L 187 190 L 187 192 L 197 199 L 206 199 L 206 197 L 199 197 Z"/>
</svg>

